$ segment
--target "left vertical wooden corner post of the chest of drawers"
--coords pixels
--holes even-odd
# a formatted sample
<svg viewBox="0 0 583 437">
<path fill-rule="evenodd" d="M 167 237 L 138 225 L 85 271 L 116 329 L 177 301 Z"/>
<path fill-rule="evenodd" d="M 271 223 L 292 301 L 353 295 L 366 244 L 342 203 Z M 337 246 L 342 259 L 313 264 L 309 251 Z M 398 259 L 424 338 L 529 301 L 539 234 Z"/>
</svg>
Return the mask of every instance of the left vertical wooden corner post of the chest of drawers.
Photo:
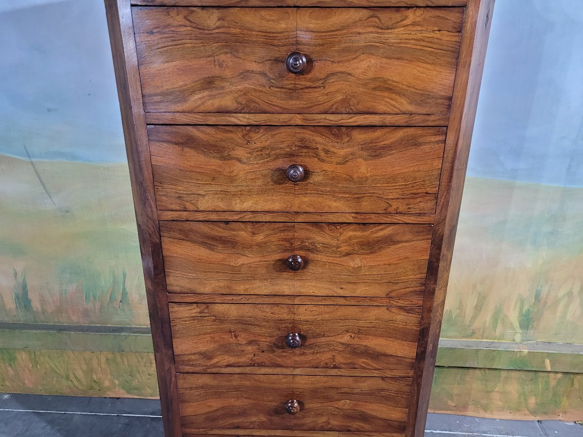
<svg viewBox="0 0 583 437">
<path fill-rule="evenodd" d="M 182 431 L 170 314 L 131 5 L 129 0 L 105 0 L 105 5 L 142 253 L 164 433 L 168 437 L 178 437 Z"/>
</svg>

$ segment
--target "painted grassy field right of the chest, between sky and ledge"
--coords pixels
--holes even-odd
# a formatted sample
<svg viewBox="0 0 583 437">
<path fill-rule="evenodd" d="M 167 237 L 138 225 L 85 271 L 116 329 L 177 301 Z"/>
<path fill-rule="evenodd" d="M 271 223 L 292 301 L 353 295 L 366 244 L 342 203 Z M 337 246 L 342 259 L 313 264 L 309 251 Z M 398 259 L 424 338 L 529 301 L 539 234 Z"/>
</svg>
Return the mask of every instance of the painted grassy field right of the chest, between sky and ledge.
<svg viewBox="0 0 583 437">
<path fill-rule="evenodd" d="M 583 188 L 466 179 L 441 336 L 583 343 Z"/>
</svg>

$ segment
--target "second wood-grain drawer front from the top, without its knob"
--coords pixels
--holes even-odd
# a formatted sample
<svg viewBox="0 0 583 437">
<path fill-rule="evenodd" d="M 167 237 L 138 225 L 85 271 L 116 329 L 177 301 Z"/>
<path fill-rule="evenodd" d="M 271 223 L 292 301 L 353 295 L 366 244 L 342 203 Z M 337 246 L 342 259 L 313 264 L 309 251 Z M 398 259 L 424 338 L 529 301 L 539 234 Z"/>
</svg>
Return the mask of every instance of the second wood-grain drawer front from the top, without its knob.
<svg viewBox="0 0 583 437">
<path fill-rule="evenodd" d="M 149 126 L 148 137 L 160 210 L 422 214 L 436 209 L 445 128 Z"/>
</svg>

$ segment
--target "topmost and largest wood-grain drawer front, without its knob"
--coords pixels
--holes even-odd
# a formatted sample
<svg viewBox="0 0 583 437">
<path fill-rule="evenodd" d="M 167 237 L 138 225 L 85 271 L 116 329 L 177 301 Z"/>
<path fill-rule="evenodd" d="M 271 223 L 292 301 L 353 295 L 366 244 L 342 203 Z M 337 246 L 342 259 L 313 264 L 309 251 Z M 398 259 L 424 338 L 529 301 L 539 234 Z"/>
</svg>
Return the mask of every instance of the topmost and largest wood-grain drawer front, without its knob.
<svg viewBox="0 0 583 437">
<path fill-rule="evenodd" d="M 132 10 L 146 112 L 449 113 L 463 8 Z"/>
</svg>

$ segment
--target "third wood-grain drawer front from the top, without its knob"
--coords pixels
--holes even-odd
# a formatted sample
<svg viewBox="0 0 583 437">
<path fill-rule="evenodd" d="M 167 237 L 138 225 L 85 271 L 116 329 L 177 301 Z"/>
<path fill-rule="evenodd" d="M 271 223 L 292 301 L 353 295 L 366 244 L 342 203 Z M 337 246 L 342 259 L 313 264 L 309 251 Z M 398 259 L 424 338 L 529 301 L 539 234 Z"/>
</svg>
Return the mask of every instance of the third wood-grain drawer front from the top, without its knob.
<svg viewBox="0 0 583 437">
<path fill-rule="evenodd" d="M 431 225 L 160 222 L 171 293 L 423 297 Z M 301 270 L 286 260 L 300 255 Z"/>
</svg>

